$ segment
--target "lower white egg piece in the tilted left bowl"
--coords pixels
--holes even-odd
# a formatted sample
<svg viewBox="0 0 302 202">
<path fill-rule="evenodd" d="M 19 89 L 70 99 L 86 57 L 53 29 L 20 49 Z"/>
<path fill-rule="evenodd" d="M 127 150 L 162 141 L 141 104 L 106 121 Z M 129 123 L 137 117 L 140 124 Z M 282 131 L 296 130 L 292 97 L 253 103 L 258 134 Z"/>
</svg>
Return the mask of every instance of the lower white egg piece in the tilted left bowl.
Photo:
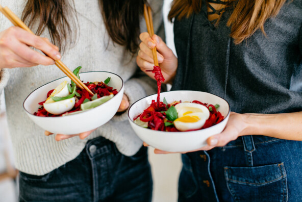
<svg viewBox="0 0 302 202">
<path fill-rule="evenodd" d="M 59 115 L 67 112 L 73 108 L 75 104 L 75 98 L 64 99 L 54 103 L 44 103 L 45 110 L 51 114 Z"/>
</svg>

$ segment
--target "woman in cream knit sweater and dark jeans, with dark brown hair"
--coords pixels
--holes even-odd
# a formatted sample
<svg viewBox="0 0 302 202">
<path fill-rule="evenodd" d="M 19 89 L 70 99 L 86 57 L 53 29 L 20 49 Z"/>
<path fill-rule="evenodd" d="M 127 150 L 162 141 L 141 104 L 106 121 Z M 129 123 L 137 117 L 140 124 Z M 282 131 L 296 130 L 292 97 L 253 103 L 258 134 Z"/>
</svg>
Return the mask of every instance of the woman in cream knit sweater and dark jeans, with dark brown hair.
<svg viewBox="0 0 302 202">
<path fill-rule="evenodd" d="M 152 177 L 147 151 L 131 130 L 124 111 L 138 98 L 155 92 L 151 79 L 136 74 L 135 56 L 144 29 L 140 24 L 145 24 L 144 3 L 152 7 L 155 30 L 160 31 L 163 1 L 0 3 L 38 35 L 11 27 L 0 15 L 0 92 L 6 86 L 15 165 L 20 170 L 20 201 L 150 201 Z M 60 53 L 64 53 L 63 58 Z M 75 137 L 45 132 L 45 136 L 22 109 L 30 92 L 64 77 L 54 66 L 54 60 L 61 58 L 71 69 L 83 66 L 83 71 L 111 71 L 124 81 L 120 112 L 93 132 Z"/>
</svg>

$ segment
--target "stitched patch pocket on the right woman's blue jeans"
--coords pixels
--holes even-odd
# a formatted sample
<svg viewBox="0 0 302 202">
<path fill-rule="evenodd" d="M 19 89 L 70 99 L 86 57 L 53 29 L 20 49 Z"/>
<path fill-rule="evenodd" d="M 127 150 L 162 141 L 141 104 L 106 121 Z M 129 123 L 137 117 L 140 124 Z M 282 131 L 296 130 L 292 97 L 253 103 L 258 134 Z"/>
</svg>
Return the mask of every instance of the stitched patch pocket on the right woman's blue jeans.
<svg viewBox="0 0 302 202">
<path fill-rule="evenodd" d="M 257 167 L 224 167 L 235 201 L 287 201 L 284 163 Z"/>
</svg>

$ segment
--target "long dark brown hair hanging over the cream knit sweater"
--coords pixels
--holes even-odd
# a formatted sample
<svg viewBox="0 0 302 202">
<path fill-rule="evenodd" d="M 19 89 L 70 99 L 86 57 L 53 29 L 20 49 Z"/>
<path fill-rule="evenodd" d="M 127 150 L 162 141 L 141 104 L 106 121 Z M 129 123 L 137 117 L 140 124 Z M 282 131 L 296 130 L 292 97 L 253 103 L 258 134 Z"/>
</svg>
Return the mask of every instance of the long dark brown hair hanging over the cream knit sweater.
<svg viewBox="0 0 302 202">
<path fill-rule="evenodd" d="M 69 3 L 71 2 L 71 3 Z M 99 0 L 105 26 L 113 42 L 124 46 L 132 54 L 138 48 L 140 34 L 139 19 L 143 14 L 146 0 Z M 41 35 L 47 28 L 54 44 L 64 52 L 76 37 L 72 26 L 77 24 L 73 0 L 28 0 L 23 10 L 22 20 L 29 27 L 38 23 L 37 35 Z"/>
</svg>

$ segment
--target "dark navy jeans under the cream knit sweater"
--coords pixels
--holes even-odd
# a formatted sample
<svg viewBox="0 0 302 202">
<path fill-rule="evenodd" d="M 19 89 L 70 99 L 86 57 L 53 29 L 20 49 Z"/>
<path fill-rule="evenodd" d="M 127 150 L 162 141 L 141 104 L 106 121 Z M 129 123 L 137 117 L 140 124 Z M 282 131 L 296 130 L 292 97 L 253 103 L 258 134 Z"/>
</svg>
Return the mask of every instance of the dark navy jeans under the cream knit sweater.
<svg viewBox="0 0 302 202">
<path fill-rule="evenodd" d="M 20 172 L 20 201 L 151 201 L 147 148 L 134 156 L 118 152 L 103 137 L 87 142 L 74 160 L 42 176 Z"/>
</svg>

